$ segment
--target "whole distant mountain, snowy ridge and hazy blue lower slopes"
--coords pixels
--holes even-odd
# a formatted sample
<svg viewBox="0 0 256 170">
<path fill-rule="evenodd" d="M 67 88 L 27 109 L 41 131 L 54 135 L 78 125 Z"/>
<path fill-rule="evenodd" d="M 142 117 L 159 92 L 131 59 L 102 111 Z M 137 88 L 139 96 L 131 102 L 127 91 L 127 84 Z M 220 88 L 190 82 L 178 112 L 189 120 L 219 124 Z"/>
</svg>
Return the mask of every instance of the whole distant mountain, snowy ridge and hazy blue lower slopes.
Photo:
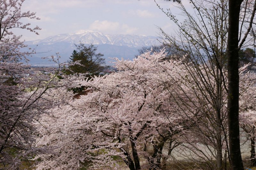
<svg viewBox="0 0 256 170">
<path fill-rule="evenodd" d="M 97 52 L 104 54 L 106 61 L 110 61 L 108 57 L 132 59 L 138 54 L 138 48 L 159 44 L 157 37 L 154 36 L 104 35 L 101 32 L 93 31 L 60 34 L 45 38 L 44 40 L 26 41 L 25 44 L 28 44 L 31 48 L 36 48 L 37 54 L 29 58 L 31 60 L 30 64 L 53 65 L 54 63 L 45 59 L 43 60 L 41 57 L 55 55 L 55 52 L 59 52 L 61 56 L 60 62 L 68 61 L 71 53 L 76 49 L 74 44 L 79 44 L 80 41 L 84 44 L 92 43 L 98 46 Z M 111 65 L 108 62 L 106 64 Z"/>
</svg>

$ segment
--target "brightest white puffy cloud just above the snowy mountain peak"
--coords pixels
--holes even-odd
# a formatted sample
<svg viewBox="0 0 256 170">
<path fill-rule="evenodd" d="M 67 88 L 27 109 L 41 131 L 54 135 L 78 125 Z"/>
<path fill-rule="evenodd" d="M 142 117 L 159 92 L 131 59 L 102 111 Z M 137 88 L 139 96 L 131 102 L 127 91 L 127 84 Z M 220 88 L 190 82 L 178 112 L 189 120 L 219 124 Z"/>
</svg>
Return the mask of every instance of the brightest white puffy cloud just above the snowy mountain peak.
<svg viewBox="0 0 256 170">
<path fill-rule="evenodd" d="M 119 22 L 112 22 L 108 20 L 96 20 L 89 26 L 89 29 L 93 31 L 100 31 L 105 34 L 131 34 L 138 30 L 136 27 L 130 27 L 126 24 L 120 24 Z"/>
</svg>

